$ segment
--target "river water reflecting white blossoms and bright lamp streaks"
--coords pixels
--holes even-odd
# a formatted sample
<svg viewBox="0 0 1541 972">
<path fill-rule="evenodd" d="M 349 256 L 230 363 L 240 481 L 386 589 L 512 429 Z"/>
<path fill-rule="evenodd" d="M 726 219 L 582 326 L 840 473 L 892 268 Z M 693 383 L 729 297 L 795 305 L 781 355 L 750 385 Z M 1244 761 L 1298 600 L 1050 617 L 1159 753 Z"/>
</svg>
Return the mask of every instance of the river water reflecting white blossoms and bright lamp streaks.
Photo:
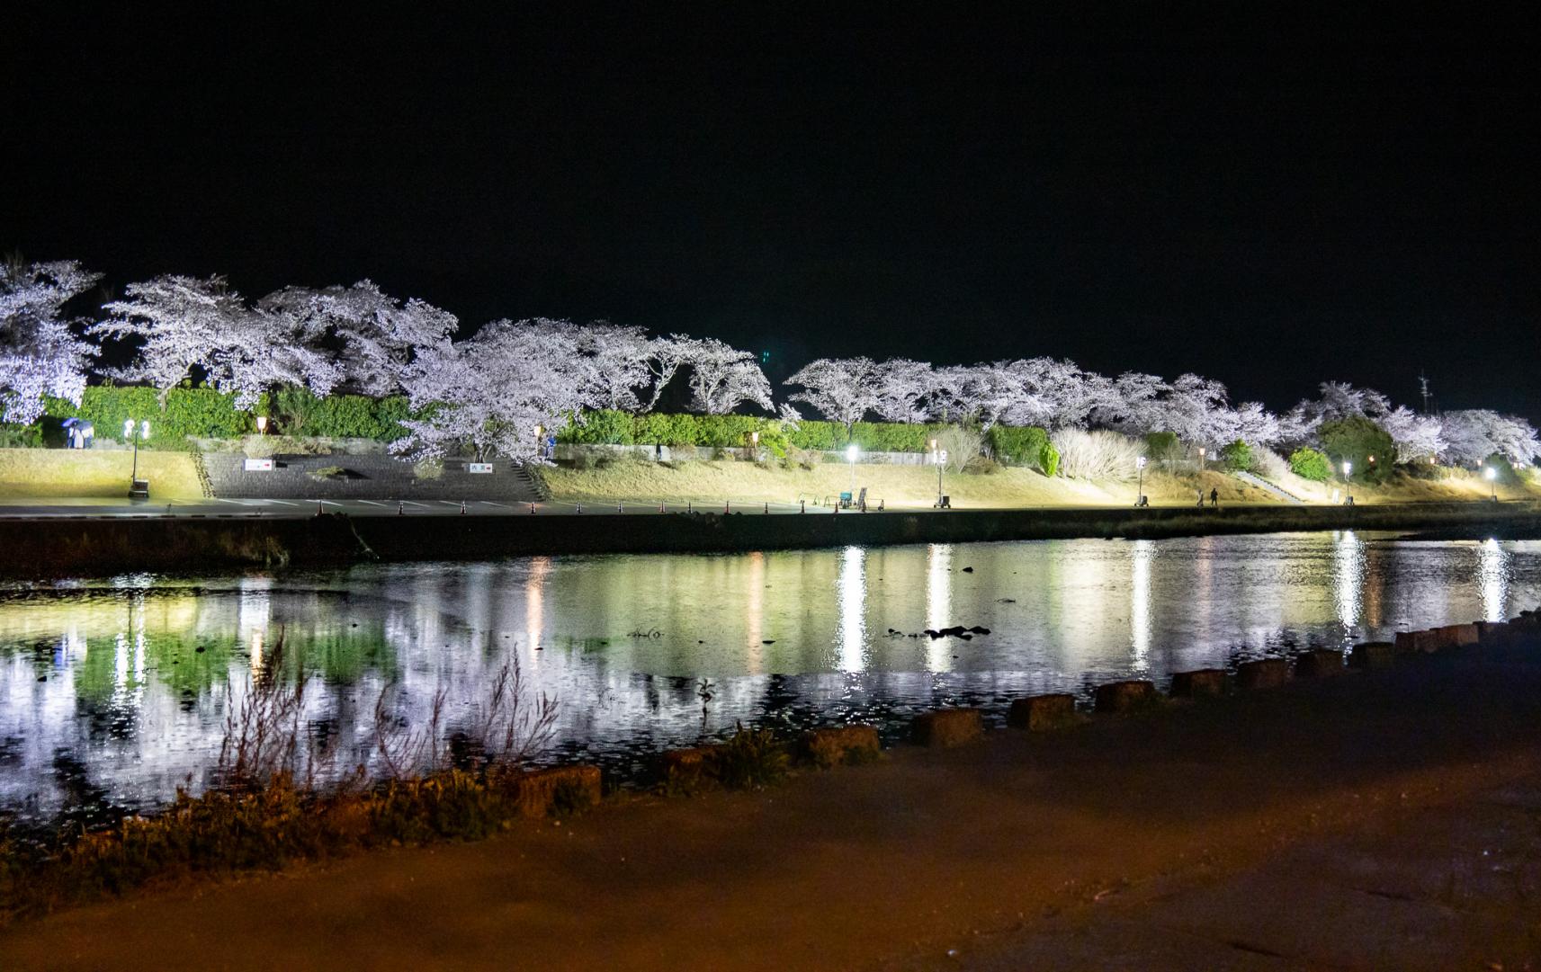
<svg viewBox="0 0 1541 972">
<path fill-rule="evenodd" d="M 277 676 L 307 679 L 305 722 L 334 766 L 376 764 L 382 692 L 421 721 L 442 690 L 453 726 L 516 658 L 559 702 L 547 756 L 624 772 L 737 719 L 894 726 L 1538 601 L 1541 544 L 1353 533 L 77 581 L 0 595 L 0 809 L 153 807 L 206 784 L 280 628 Z M 991 633 L 908 636 L 954 624 Z"/>
</svg>

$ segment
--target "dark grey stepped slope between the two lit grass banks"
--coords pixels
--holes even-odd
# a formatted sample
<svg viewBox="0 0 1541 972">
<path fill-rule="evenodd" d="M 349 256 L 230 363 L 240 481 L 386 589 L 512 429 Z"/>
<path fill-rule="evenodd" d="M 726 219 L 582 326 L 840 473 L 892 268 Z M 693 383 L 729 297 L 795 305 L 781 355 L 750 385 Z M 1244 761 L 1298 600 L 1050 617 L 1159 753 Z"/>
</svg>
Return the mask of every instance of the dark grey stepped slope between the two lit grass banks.
<svg viewBox="0 0 1541 972">
<path fill-rule="evenodd" d="M 544 482 L 519 464 L 496 461 L 492 473 L 467 471 L 468 459 L 445 459 L 436 479 L 393 456 L 273 456 L 273 470 L 245 470 L 240 453 L 203 453 L 208 490 L 217 499 L 492 499 L 536 502 Z M 341 470 L 319 474 L 322 470 Z"/>
</svg>

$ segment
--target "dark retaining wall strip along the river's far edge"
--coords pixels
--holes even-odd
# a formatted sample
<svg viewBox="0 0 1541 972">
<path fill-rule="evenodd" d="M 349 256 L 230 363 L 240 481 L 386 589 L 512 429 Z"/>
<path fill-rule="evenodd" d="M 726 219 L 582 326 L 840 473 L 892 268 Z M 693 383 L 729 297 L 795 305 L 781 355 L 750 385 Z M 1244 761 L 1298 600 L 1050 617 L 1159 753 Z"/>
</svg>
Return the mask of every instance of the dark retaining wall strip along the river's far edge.
<svg viewBox="0 0 1541 972">
<path fill-rule="evenodd" d="M 1541 538 L 1541 505 L 1185 507 L 869 513 L 606 513 L 0 521 L 0 576 L 273 570 L 575 553 L 738 553 L 1034 539 L 1407 531 L 1412 539 Z"/>
</svg>

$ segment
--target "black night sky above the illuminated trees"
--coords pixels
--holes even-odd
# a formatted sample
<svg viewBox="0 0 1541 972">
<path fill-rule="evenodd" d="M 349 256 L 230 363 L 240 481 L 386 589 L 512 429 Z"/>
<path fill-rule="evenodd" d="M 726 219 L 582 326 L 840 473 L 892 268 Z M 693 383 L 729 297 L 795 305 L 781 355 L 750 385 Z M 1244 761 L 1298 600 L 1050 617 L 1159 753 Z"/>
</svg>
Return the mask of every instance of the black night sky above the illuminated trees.
<svg viewBox="0 0 1541 972">
<path fill-rule="evenodd" d="M 1535 23 L 62 6 L 0 40 L 0 248 L 117 288 L 370 277 L 774 379 L 1051 354 L 1287 408 L 1322 379 L 1416 405 L 1425 370 L 1439 407 L 1541 421 Z"/>
</svg>

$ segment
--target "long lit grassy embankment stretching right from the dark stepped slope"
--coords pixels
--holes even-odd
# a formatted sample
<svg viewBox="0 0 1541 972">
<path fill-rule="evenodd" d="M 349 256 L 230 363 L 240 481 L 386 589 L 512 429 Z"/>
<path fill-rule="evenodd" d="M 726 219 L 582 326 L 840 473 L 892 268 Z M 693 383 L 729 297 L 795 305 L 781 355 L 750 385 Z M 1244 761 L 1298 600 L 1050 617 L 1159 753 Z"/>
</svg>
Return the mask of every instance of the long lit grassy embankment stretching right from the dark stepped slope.
<svg viewBox="0 0 1541 972">
<path fill-rule="evenodd" d="M 556 499 L 735 504 L 797 502 L 817 504 L 828 496 L 851 488 L 851 467 L 823 464 L 812 468 L 780 468 L 754 462 L 712 461 L 658 464 L 616 459 L 592 468 L 567 465 L 542 470 Z M 869 502 L 885 501 L 888 507 L 931 507 L 937 496 L 934 467 L 857 465 L 857 488 L 868 487 Z M 1330 504 L 1333 490 L 1342 484 L 1316 484 L 1285 473 L 1277 485 L 1307 502 Z M 1271 493 L 1247 485 L 1220 471 L 1170 474 L 1151 470 L 1145 476 L 1145 494 L 1151 505 L 1193 505 L 1197 490 L 1205 496 L 1219 490 L 1222 505 L 1279 505 Z M 991 473 L 945 473 L 943 491 L 959 508 L 1012 507 L 1128 507 L 1134 502 L 1134 482 L 1082 481 L 1048 478 L 1026 468 L 997 468 Z M 1442 479 L 1398 476 L 1384 487 L 1353 487 L 1356 504 L 1384 502 L 1445 502 L 1487 499 L 1486 481 L 1462 470 Z M 1499 485 L 1502 499 L 1536 499 L 1541 491 L 1526 485 Z"/>
</svg>

